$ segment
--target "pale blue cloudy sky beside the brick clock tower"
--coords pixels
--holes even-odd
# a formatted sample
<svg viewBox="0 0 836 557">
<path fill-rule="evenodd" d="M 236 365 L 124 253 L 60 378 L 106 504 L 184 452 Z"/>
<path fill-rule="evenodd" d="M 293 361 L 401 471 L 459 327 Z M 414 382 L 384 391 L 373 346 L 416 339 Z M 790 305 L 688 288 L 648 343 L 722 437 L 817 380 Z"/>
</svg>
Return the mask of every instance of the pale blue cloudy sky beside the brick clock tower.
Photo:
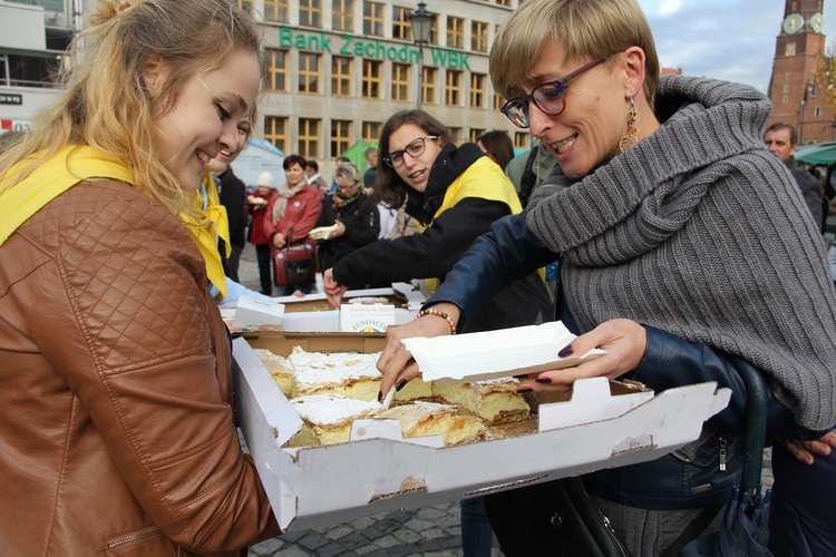
<svg viewBox="0 0 836 557">
<path fill-rule="evenodd" d="M 751 85 L 766 92 L 782 0 L 638 0 L 662 66 Z M 827 47 L 836 38 L 836 0 L 825 1 Z"/>
</svg>

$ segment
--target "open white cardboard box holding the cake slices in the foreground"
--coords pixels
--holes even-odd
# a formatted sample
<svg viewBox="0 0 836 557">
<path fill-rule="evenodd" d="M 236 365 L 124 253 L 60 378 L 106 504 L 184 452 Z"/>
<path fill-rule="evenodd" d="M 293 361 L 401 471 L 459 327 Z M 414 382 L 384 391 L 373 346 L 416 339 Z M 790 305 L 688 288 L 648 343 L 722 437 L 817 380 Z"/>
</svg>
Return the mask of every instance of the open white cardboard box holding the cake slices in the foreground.
<svg viewBox="0 0 836 557">
<path fill-rule="evenodd" d="M 380 423 L 387 420 L 372 419 L 354 421 L 352 439 L 362 440 L 282 448 L 302 420 L 252 348 L 282 355 L 293 345 L 368 353 L 382 350 L 385 343 L 385 335 L 348 333 L 250 333 L 235 339 L 239 423 L 283 531 L 652 460 L 697 439 L 703 421 L 722 410 L 730 397 L 713 382 L 653 397 L 625 385 L 620 387 L 622 393 L 612 394 L 605 380 L 604 388 L 586 380 L 575 384 L 570 401 L 541 401 L 539 432 L 434 448 L 385 438 L 400 432 Z M 585 410 L 583 423 L 577 423 L 577 409 Z M 550 413 L 561 416 L 548 418 Z"/>
</svg>

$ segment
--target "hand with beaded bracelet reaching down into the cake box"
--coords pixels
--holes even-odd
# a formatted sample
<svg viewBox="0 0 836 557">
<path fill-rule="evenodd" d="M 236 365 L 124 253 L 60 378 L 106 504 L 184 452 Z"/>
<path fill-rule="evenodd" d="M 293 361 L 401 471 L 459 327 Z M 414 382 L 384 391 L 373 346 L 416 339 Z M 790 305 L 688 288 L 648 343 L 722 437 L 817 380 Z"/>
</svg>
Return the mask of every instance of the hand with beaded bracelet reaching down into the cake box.
<svg viewBox="0 0 836 557">
<path fill-rule="evenodd" d="M 461 310 L 451 303 L 435 304 L 432 309 L 449 315 L 454 323 L 458 323 L 461 316 Z M 425 315 L 406 325 L 389 329 L 386 334 L 386 348 L 378 359 L 378 370 L 383 374 L 380 382 L 379 397 L 381 399 L 392 387 L 400 390 L 408 381 L 420 374 L 418 363 L 412 359 L 412 354 L 409 353 L 404 343 L 400 342 L 401 339 L 441 336 L 443 334 L 450 334 L 450 325 L 447 320 L 436 315 Z"/>
</svg>

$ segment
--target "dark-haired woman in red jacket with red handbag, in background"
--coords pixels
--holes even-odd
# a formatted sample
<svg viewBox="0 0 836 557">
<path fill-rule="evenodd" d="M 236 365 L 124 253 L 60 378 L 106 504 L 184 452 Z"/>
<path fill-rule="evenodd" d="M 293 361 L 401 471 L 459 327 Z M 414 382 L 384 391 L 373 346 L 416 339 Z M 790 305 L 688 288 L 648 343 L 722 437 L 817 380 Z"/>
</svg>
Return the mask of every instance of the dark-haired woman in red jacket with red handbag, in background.
<svg viewBox="0 0 836 557">
<path fill-rule="evenodd" d="M 304 174 L 307 166 L 308 162 L 299 155 L 289 155 L 282 163 L 286 184 L 279 192 L 272 211 L 275 227 L 270 234 L 270 242 L 274 251 L 282 250 L 288 243 L 303 242 L 322 212 L 322 194 L 308 185 Z M 279 295 L 288 296 L 295 291 L 309 294 L 312 290 L 313 283 L 295 286 L 280 284 Z"/>
</svg>

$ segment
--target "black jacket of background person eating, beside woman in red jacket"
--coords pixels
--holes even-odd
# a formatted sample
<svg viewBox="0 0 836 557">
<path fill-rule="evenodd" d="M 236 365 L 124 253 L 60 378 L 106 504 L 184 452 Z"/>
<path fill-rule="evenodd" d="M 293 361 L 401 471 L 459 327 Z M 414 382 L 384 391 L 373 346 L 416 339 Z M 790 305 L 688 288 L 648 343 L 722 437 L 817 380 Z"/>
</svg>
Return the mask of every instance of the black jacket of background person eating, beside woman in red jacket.
<svg viewBox="0 0 836 557">
<path fill-rule="evenodd" d="M 322 196 L 322 213 L 317 226 L 330 226 L 338 219 L 346 225 L 346 233 L 332 240 L 319 243 L 319 267 L 331 268 L 334 264 L 372 242 L 377 242 L 380 234 L 380 212 L 371 197 L 357 194 L 357 198 L 342 207 L 333 206 L 334 194 Z"/>
</svg>

